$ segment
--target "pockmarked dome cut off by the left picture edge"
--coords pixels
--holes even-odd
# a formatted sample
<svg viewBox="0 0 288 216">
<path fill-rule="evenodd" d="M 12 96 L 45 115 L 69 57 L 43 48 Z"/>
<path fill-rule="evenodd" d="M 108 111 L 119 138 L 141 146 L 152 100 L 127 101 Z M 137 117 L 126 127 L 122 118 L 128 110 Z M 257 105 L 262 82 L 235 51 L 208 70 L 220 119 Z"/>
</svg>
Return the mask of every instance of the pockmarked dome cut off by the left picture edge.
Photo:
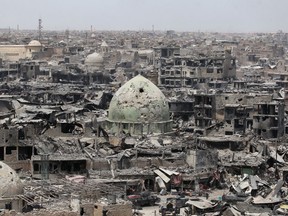
<svg viewBox="0 0 288 216">
<path fill-rule="evenodd" d="M 23 185 L 17 173 L 0 162 L 0 197 L 12 197 L 23 193 Z"/>
</svg>

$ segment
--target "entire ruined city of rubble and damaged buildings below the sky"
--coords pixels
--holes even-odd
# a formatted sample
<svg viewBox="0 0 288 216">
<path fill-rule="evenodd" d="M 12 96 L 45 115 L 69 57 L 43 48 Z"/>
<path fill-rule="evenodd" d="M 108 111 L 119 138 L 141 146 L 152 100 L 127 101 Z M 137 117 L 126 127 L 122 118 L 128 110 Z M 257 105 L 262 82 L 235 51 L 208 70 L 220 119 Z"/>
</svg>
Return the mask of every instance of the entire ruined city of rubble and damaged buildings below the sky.
<svg viewBox="0 0 288 216">
<path fill-rule="evenodd" d="M 287 40 L 0 31 L 0 209 L 285 214 Z"/>
</svg>

